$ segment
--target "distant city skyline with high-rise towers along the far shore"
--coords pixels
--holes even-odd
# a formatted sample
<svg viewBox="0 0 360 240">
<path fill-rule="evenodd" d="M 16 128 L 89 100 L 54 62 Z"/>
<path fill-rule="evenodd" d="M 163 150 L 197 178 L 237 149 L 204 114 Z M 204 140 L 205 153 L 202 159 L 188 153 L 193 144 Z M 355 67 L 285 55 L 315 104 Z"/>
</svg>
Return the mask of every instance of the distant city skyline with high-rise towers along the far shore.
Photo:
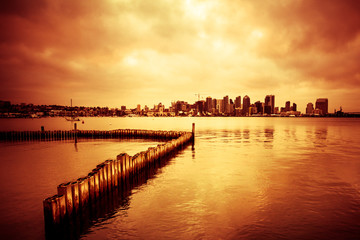
<svg viewBox="0 0 360 240">
<path fill-rule="evenodd" d="M 242 100 L 241 100 L 242 99 Z M 355 117 L 358 112 L 343 112 L 342 107 L 328 111 L 329 100 L 318 98 L 315 107 L 309 102 L 305 111 L 297 108 L 295 102 L 286 101 L 285 105 L 276 105 L 275 95 L 266 95 L 264 101 L 253 101 L 248 95 L 243 98 L 237 96 L 234 100 L 228 95 L 222 99 L 208 96 L 206 101 L 198 100 L 189 103 L 177 100 L 168 107 L 161 102 L 151 106 L 136 105 L 136 108 L 121 105 L 116 108 L 107 106 L 71 106 L 67 105 L 34 105 L 32 103 L 12 104 L 10 101 L 0 101 L 0 118 L 37 118 L 37 117 L 66 117 L 66 116 L 327 116 L 327 117 Z"/>
</svg>

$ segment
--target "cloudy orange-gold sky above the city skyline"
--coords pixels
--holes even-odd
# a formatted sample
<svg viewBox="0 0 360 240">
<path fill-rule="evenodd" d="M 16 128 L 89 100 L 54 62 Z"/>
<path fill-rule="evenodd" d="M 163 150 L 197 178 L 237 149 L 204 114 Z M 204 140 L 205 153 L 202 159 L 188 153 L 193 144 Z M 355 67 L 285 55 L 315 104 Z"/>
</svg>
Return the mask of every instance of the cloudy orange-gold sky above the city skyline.
<svg viewBox="0 0 360 240">
<path fill-rule="evenodd" d="M 0 100 L 134 108 L 275 95 L 360 112 L 357 0 L 0 2 Z"/>
</svg>

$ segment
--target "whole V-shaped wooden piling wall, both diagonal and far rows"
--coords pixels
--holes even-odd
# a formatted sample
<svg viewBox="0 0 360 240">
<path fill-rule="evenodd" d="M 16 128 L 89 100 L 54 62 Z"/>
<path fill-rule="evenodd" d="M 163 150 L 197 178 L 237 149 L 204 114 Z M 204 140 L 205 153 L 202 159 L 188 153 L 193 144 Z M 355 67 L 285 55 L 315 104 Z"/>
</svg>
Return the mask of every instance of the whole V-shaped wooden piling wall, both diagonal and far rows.
<svg viewBox="0 0 360 240">
<path fill-rule="evenodd" d="M 63 140 L 80 137 L 114 138 L 114 137 L 148 137 L 168 139 L 166 143 L 150 147 L 146 151 L 129 156 L 126 153 L 117 155 L 115 160 L 106 160 L 98 164 L 86 177 L 76 181 L 60 184 L 58 194 L 44 200 L 44 216 L 52 224 L 61 223 L 66 217 L 81 214 L 93 203 L 101 200 L 113 191 L 121 189 L 126 191 L 130 186 L 136 186 L 146 172 L 160 163 L 175 149 L 191 141 L 195 135 L 195 124 L 192 132 L 174 131 L 147 131 L 135 129 L 119 129 L 112 131 L 78 130 L 74 124 L 73 131 L 36 131 L 26 132 L 1 132 L 1 139 L 34 139 Z M 159 160 L 160 159 L 160 160 Z M 159 160 L 159 161 L 157 161 Z"/>
</svg>

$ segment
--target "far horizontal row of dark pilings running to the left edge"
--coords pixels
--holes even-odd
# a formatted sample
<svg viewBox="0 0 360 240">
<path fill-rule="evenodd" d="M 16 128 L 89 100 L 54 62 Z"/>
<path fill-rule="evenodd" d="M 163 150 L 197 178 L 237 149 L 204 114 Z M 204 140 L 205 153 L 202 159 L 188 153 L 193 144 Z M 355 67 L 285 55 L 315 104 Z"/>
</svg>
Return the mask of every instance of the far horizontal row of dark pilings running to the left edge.
<svg viewBox="0 0 360 240">
<path fill-rule="evenodd" d="M 77 138 L 178 138 L 185 132 L 155 131 L 141 129 L 117 130 L 50 130 L 50 131 L 0 131 L 0 140 L 3 141 L 55 141 L 72 140 Z"/>
</svg>

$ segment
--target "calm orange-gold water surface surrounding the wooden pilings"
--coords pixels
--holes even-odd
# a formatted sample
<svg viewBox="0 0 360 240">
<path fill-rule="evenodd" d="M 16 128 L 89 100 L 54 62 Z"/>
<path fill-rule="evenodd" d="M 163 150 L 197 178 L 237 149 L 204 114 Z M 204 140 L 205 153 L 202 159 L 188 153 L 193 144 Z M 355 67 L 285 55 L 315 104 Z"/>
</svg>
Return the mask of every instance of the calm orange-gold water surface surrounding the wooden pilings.
<svg viewBox="0 0 360 240">
<path fill-rule="evenodd" d="M 359 239 L 360 119 L 85 118 L 80 129 L 191 130 L 196 141 L 82 239 Z M 0 130 L 70 129 L 61 118 Z M 157 142 L 1 143 L 0 229 L 44 239 L 42 200 L 121 152 Z"/>
</svg>

